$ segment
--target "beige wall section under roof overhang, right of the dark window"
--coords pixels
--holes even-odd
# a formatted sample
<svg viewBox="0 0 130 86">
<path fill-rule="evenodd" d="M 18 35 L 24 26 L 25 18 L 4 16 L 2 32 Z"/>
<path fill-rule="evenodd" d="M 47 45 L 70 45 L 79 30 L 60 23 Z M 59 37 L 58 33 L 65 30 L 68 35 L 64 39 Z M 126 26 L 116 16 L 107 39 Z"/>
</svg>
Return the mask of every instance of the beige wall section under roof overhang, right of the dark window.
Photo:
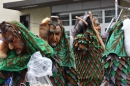
<svg viewBox="0 0 130 86">
<path fill-rule="evenodd" d="M 50 7 L 22 10 L 20 15 L 30 15 L 30 31 L 39 35 L 39 25 L 45 17 L 51 16 Z"/>
</svg>

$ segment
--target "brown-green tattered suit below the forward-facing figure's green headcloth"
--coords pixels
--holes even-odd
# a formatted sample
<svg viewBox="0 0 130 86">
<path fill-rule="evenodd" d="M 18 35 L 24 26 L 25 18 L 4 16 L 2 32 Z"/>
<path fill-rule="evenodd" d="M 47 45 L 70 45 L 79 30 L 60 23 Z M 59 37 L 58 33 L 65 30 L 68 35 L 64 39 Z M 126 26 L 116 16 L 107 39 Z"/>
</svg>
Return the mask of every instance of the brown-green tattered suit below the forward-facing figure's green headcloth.
<svg viewBox="0 0 130 86">
<path fill-rule="evenodd" d="M 50 80 L 53 86 L 78 86 L 78 79 L 75 68 L 60 66 L 56 60 L 53 60 L 53 76 Z"/>
</svg>

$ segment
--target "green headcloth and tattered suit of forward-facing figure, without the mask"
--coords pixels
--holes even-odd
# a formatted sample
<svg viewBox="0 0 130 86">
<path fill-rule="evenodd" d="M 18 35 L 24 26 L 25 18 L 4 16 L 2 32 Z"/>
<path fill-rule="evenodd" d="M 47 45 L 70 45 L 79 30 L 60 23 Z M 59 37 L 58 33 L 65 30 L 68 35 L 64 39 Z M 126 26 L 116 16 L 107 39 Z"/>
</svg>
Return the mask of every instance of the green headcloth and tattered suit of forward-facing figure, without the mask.
<svg viewBox="0 0 130 86">
<path fill-rule="evenodd" d="M 53 48 L 56 60 L 53 65 L 51 81 L 53 86 L 78 86 L 74 54 L 67 33 L 63 27 L 62 29 L 63 35 L 60 43 Z"/>
</svg>

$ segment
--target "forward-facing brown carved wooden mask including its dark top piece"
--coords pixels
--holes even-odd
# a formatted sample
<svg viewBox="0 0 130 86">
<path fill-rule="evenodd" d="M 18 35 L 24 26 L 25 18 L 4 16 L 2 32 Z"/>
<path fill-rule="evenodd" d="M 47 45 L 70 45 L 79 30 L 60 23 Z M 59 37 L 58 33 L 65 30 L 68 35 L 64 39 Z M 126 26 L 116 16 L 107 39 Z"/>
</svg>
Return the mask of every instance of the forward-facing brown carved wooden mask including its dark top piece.
<svg viewBox="0 0 130 86">
<path fill-rule="evenodd" d="M 48 43 L 52 47 L 56 47 L 60 41 L 63 34 L 62 23 L 59 18 L 51 17 L 49 22 L 49 35 L 48 35 Z"/>
</svg>

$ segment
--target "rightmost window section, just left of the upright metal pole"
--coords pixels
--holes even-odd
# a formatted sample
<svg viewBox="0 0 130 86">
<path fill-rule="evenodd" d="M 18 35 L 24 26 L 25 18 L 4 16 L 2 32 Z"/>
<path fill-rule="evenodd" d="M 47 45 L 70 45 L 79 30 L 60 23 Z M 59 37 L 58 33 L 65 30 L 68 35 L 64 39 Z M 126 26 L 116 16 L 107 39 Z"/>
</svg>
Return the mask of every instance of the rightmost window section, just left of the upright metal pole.
<svg viewBox="0 0 130 86">
<path fill-rule="evenodd" d="M 115 10 L 105 10 L 105 23 L 111 22 L 114 16 L 115 16 Z"/>
</svg>

